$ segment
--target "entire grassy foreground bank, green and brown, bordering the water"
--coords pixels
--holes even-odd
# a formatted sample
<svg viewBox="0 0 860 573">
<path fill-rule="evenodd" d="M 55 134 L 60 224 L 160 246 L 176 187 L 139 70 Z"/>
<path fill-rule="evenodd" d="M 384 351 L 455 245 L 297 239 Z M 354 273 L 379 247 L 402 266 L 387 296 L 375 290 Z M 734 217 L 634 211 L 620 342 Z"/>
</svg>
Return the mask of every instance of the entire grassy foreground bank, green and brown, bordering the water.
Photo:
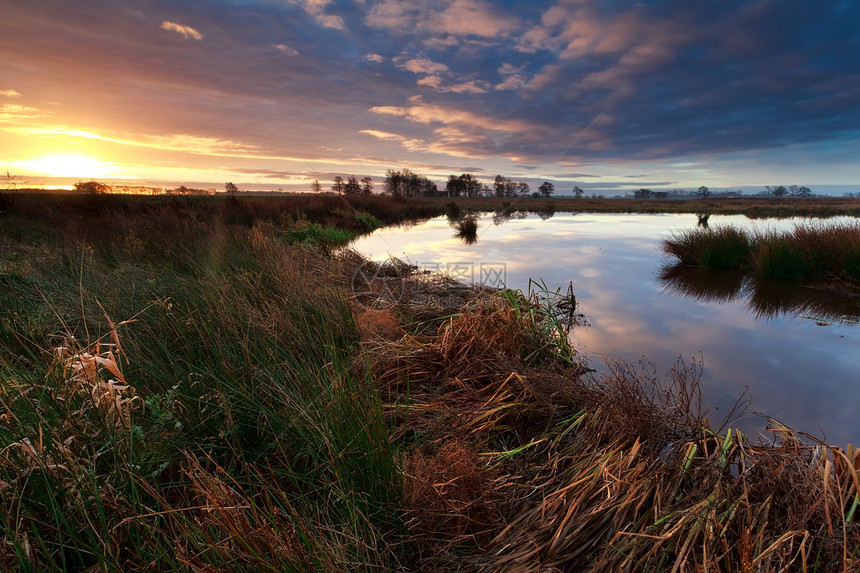
<svg viewBox="0 0 860 573">
<path fill-rule="evenodd" d="M 563 300 L 297 233 L 405 210 L 14 200 L 3 569 L 857 567 L 853 449 L 712 428 L 697 364 L 590 378 Z"/>
</svg>

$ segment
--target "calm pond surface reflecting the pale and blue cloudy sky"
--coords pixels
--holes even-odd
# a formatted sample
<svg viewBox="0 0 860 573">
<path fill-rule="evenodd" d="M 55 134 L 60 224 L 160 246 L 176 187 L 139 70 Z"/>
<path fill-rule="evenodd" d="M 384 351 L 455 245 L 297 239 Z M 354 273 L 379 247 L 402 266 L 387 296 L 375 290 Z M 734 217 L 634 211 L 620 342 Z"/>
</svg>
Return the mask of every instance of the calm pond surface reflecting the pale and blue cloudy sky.
<svg viewBox="0 0 860 573">
<path fill-rule="evenodd" d="M 709 220 L 775 230 L 795 222 Z M 841 319 L 860 315 L 856 299 L 731 272 L 664 269 L 660 241 L 695 228 L 692 214 L 485 215 L 476 223 L 478 240 L 471 243 L 453 237 L 449 220 L 440 217 L 411 229 L 380 229 L 353 247 L 375 260 L 390 254 L 490 286 L 501 279 L 527 290 L 535 279 L 565 292 L 572 281 L 590 326 L 574 328 L 571 339 L 592 367 L 600 368 L 603 356 L 633 362 L 645 356 L 666 371 L 679 355 L 701 356 L 703 400 L 714 420 L 749 387 L 762 413 L 835 444 L 860 440 L 860 328 Z M 733 427 L 755 435 L 765 423 L 750 413 Z"/>
</svg>

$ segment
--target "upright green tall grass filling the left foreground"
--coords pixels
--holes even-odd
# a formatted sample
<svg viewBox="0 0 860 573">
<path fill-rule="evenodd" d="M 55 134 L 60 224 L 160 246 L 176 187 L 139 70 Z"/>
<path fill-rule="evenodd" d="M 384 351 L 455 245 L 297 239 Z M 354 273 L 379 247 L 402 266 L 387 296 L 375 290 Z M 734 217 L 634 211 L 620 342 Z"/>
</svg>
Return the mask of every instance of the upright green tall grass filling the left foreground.
<svg viewBox="0 0 860 573">
<path fill-rule="evenodd" d="M 346 273 L 266 226 L 112 217 L 4 251 L 0 568 L 393 566 Z"/>
</svg>

